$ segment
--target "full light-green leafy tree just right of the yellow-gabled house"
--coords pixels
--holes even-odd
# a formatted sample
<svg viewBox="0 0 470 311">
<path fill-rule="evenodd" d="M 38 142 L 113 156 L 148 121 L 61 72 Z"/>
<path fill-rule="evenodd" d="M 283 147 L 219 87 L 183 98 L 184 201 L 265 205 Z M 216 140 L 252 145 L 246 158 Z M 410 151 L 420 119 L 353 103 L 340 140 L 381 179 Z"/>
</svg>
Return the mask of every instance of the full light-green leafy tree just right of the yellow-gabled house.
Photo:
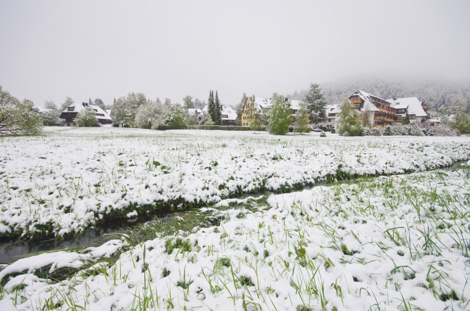
<svg viewBox="0 0 470 311">
<path fill-rule="evenodd" d="M 269 133 L 282 135 L 289 130 L 292 108 L 290 101 L 284 96 L 274 93 L 271 97 L 271 111 L 269 117 Z"/>
</svg>

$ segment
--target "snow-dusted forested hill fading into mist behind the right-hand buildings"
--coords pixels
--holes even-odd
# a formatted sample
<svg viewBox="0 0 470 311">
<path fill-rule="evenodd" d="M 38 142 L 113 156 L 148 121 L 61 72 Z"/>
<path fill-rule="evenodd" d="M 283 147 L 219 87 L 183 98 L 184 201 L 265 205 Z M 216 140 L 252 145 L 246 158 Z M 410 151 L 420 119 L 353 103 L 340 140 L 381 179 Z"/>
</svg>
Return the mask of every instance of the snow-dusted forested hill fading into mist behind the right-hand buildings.
<svg viewBox="0 0 470 311">
<path fill-rule="evenodd" d="M 379 96 L 383 99 L 393 97 L 418 97 L 429 108 L 460 106 L 470 109 L 470 85 L 448 84 L 445 82 L 397 82 L 390 80 L 367 79 L 320 84 L 329 104 L 339 104 L 357 89 Z M 288 95 L 292 99 L 302 99 L 305 91 Z"/>
</svg>

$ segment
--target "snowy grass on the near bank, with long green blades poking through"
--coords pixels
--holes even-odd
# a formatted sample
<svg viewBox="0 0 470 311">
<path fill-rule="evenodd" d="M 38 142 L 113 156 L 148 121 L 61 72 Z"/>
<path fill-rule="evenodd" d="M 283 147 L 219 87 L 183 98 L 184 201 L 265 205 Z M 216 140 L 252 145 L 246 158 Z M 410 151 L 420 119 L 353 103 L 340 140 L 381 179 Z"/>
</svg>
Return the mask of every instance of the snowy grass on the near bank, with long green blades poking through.
<svg viewBox="0 0 470 311">
<path fill-rule="evenodd" d="M 97 275 L 16 276 L 0 309 L 469 310 L 469 189 L 464 168 L 271 195 Z"/>
</svg>

